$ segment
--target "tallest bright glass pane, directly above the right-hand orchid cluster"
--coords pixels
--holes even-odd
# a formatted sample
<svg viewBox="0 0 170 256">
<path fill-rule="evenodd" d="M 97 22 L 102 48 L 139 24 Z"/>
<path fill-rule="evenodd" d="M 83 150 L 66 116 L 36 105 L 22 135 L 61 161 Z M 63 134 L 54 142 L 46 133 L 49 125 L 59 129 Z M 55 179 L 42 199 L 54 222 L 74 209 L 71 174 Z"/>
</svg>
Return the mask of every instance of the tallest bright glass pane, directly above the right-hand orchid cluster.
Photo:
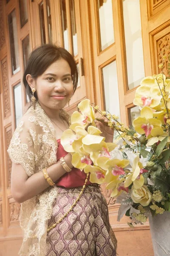
<svg viewBox="0 0 170 256">
<path fill-rule="evenodd" d="M 128 89 L 144 77 L 140 0 L 122 0 L 125 30 Z"/>
</svg>

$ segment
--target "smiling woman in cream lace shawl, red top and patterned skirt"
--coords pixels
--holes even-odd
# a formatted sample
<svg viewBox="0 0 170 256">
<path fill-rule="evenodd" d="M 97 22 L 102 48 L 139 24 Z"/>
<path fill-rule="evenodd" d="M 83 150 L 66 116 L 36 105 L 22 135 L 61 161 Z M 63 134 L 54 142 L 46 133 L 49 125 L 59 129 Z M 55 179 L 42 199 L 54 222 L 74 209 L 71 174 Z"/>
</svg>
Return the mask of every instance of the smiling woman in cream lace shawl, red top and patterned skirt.
<svg viewBox="0 0 170 256">
<path fill-rule="evenodd" d="M 116 239 L 99 186 L 86 180 L 84 192 L 71 208 L 86 174 L 73 168 L 60 138 L 69 127 L 69 116 L 62 108 L 77 81 L 76 62 L 65 49 L 44 44 L 31 52 L 23 83 L 32 106 L 8 148 L 13 162 L 11 192 L 21 203 L 21 256 L 116 255 Z M 108 141 L 113 140 L 110 128 L 101 122 L 96 125 Z"/>
</svg>

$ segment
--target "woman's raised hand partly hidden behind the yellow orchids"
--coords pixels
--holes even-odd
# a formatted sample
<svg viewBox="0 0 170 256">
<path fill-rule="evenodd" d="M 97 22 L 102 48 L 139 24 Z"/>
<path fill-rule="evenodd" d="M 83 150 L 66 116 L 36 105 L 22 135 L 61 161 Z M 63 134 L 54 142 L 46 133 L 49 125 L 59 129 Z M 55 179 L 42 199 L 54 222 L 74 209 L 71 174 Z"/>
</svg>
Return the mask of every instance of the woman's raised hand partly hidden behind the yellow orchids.
<svg viewBox="0 0 170 256">
<path fill-rule="evenodd" d="M 105 142 L 113 142 L 114 127 L 111 128 L 107 125 L 108 119 L 106 117 L 100 117 L 97 119 L 98 120 L 96 120 L 96 127 L 99 128 L 102 132 L 101 136 L 106 138 Z M 99 120 L 101 120 L 101 122 Z M 103 122 L 105 122 L 105 124 Z"/>
</svg>

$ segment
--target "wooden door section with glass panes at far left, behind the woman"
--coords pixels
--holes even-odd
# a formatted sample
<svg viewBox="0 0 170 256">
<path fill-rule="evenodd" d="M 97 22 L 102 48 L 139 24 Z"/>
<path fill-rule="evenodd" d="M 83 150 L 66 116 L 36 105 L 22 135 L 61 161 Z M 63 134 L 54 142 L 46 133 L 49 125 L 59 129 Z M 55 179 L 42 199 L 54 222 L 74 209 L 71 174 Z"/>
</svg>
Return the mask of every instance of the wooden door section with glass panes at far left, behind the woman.
<svg viewBox="0 0 170 256">
<path fill-rule="evenodd" d="M 31 48 L 28 1 L 0 1 L 0 255 L 17 255 L 22 241 L 20 204 L 11 195 L 7 148 L 25 111 L 23 69 Z"/>
</svg>

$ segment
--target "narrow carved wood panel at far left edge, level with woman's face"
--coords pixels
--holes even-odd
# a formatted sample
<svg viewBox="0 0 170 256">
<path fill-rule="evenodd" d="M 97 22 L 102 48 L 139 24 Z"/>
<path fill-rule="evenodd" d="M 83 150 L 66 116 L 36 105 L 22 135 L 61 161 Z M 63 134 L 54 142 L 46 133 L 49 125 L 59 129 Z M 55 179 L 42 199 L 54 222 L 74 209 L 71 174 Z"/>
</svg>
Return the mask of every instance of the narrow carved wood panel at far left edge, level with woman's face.
<svg viewBox="0 0 170 256">
<path fill-rule="evenodd" d="M 8 84 L 8 66 L 7 58 L 4 58 L 1 62 L 2 80 L 3 80 L 3 108 L 4 116 L 10 115 L 10 99 L 9 99 L 9 84 Z"/>
</svg>

